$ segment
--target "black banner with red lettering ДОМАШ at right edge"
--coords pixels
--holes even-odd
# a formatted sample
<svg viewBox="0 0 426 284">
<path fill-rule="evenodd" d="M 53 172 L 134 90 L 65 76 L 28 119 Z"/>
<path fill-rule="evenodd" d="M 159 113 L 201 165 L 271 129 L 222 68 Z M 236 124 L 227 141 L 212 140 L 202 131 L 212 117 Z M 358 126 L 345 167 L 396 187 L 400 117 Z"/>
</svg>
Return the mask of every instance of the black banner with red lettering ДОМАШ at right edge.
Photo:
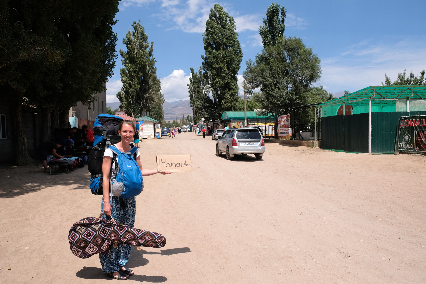
<svg viewBox="0 0 426 284">
<path fill-rule="evenodd" d="M 426 115 L 400 118 L 396 143 L 398 152 L 426 154 Z"/>
</svg>

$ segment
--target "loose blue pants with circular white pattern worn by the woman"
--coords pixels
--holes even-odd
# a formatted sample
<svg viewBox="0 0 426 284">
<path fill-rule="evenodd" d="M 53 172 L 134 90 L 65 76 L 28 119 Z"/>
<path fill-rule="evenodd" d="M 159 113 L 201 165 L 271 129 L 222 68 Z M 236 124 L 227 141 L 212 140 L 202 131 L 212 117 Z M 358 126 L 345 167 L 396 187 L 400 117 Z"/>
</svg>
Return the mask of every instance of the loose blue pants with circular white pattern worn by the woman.
<svg viewBox="0 0 426 284">
<path fill-rule="evenodd" d="M 120 207 L 120 199 L 124 201 L 126 207 Z M 111 215 L 115 221 L 121 224 L 135 226 L 135 215 L 136 215 L 136 198 L 135 196 L 130 198 L 118 198 L 112 197 L 111 204 Z M 104 213 L 104 198 L 102 198 L 101 214 Z M 110 219 L 110 217 L 107 217 Z M 107 253 L 100 253 L 99 260 L 102 264 L 102 271 L 104 273 L 112 273 L 120 270 L 120 267 L 127 264 L 130 258 L 130 248 L 127 244 L 120 244 L 117 248 L 112 247 Z"/>
</svg>

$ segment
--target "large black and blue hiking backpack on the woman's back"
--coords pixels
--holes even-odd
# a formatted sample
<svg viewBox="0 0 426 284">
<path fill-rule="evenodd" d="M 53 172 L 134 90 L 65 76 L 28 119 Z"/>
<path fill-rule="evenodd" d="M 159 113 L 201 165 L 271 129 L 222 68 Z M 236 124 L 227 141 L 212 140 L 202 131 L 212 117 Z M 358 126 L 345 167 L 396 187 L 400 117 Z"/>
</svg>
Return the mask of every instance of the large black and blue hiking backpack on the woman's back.
<svg viewBox="0 0 426 284">
<path fill-rule="evenodd" d="M 115 115 L 98 115 L 94 124 L 94 145 L 87 157 L 87 167 L 91 174 L 90 189 L 95 195 L 102 195 L 102 162 L 104 152 L 110 145 L 121 141 L 118 126 L 123 118 Z"/>
</svg>

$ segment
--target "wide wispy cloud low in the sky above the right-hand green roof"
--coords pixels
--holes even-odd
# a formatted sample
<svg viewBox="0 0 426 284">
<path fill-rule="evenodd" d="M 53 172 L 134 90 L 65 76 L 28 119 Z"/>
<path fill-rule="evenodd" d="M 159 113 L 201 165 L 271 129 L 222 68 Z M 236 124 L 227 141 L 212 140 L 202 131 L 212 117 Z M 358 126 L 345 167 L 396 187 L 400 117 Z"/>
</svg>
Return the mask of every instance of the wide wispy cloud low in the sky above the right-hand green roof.
<svg viewBox="0 0 426 284">
<path fill-rule="evenodd" d="M 397 43 L 363 41 L 354 44 L 341 55 L 322 60 L 320 83 L 328 86 L 329 92 L 354 92 L 381 85 L 385 73 L 391 80 L 404 69 L 419 75 L 426 65 L 425 41 L 420 37 Z"/>
</svg>

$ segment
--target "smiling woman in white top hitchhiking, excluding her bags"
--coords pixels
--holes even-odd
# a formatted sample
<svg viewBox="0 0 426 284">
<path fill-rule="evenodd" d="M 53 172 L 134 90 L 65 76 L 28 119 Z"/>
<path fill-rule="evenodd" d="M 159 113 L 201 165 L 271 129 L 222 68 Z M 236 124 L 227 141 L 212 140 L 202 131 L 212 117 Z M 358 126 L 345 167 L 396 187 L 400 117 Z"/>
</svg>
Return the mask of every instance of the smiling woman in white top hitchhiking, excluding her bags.
<svg viewBox="0 0 426 284">
<path fill-rule="evenodd" d="M 132 120 L 123 120 L 118 127 L 118 134 L 121 135 L 121 141 L 114 144 L 113 146 L 115 146 L 121 152 L 129 152 L 131 149 L 130 141 L 135 134 L 135 130 L 136 127 Z M 135 154 L 135 160 L 139 166 L 139 169 L 141 169 L 142 176 L 154 175 L 158 172 L 157 169 L 143 169 L 141 165 L 139 149 L 136 150 Z M 103 184 L 109 184 L 109 172 L 111 169 L 112 156 L 112 150 L 106 149 L 102 163 Z M 118 156 L 116 158 L 118 158 Z M 114 172 L 114 170 L 115 163 L 112 164 L 112 171 Z M 170 172 L 162 171 L 161 174 L 167 175 L 170 174 Z M 114 218 L 119 223 L 134 227 L 136 214 L 135 196 L 130 198 L 119 198 L 112 196 L 112 204 L 110 204 L 108 186 L 103 186 L 103 193 L 104 197 L 102 198 L 101 214 L 105 213 L 107 216 L 111 215 L 112 218 Z M 118 280 L 126 280 L 130 277 L 130 275 L 134 274 L 132 270 L 125 266 L 130 257 L 130 248 L 130 245 L 121 244 L 118 245 L 117 248 L 112 248 L 107 253 L 99 254 L 102 271 L 107 273 L 108 277 Z"/>
</svg>

